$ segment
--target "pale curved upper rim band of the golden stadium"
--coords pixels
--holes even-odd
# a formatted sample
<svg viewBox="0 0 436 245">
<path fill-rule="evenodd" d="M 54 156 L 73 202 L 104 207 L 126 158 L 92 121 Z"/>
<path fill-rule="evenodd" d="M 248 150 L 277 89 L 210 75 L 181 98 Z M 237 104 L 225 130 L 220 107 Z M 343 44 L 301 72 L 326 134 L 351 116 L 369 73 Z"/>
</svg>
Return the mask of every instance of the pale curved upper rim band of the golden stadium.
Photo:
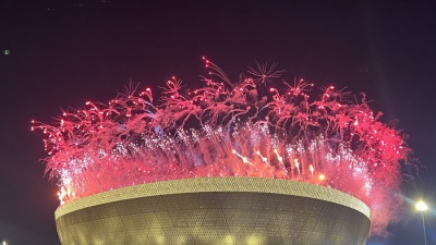
<svg viewBox="0 0 436 245">
<path fill-rule="evenodd" d="M 337 189 L 282 179 L 241 176 L 181 179 L 117 188 L 66 203 L 56 210 L 55 218 L 58 219 L 80 209 L 125 199 L 210 192 L 270 193 L 320 199 L 352 208 L 371 220 L 371 210 L 362 200 Z"/>
</svg>

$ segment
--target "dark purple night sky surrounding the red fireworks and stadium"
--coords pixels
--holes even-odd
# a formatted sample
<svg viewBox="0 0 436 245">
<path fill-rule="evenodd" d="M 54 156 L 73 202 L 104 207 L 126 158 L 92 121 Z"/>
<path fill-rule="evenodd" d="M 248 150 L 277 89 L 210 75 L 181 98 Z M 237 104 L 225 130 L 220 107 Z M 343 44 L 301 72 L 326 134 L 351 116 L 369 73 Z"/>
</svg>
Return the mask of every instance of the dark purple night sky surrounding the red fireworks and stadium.
<svg viewBox="0 0 436 245">
<path fill-rule="evenodd" d="M 254 61 L 269 61 L 290 78 L 366 91 L 386 122 L 399 120 L 425 166 L 404 181 L 404 199 L 424 196 L 436 207 L 436 8 L 429 1 L 143 2 L 149 3 L 1 1 L 0 49 L 10 54 L 0 56 L 0 242 L 59 244 L 57 188 L 44 177 L 43 136 L 29 131 L 33 118 L 50 122 L 59 108 L 105 101 L 131 79 L 157 87 L 175 74 L 198 84 L 202 54 L 233 77 Z M 423 244 L 410 204 L 401 217 L 390 237 L 368 244 Z M 435 244 L 435 212 L 426 218 Z"/>
</svg>

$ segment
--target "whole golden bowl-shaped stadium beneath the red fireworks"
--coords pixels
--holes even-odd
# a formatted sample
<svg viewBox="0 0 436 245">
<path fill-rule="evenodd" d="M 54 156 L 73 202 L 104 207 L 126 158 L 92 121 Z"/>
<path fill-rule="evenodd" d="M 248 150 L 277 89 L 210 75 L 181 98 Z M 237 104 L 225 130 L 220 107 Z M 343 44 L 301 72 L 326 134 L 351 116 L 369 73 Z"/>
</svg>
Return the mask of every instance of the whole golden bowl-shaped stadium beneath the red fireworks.
<svg viewBox="0 0 436 245">
<path fill-rule="evenodd" d="M 344 193 L 259 177 L 135 185 L 56 210 L 62 245 L 364 245 L 370 220 Z"/>
</svg>

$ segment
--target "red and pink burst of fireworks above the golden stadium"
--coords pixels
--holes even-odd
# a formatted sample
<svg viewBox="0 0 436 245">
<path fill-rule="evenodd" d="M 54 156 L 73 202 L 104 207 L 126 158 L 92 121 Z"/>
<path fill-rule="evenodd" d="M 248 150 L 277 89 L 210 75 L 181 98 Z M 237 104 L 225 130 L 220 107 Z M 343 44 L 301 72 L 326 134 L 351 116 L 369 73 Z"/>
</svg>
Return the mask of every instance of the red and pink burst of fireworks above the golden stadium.
<svg viewBox="0 0 436 245">
<path fill-rule="evenodd" d="M 48 152 L 47 174 L 61 204 L 113 188 L 187 177 L 257 176 L 314 183 L 348 193 L 373 211 L 383 231 L 400 203 L 400 133 L 334 86 L 310 99 L 304 81 L 271 87 L 276 64 L 231 81 L 215 63 L 204 86 L 186 93 L 172 77 L 154 101 L 128 89 L 108 103 L 64 111 L 56 125 L 33 121 Z"/>
</svg>

